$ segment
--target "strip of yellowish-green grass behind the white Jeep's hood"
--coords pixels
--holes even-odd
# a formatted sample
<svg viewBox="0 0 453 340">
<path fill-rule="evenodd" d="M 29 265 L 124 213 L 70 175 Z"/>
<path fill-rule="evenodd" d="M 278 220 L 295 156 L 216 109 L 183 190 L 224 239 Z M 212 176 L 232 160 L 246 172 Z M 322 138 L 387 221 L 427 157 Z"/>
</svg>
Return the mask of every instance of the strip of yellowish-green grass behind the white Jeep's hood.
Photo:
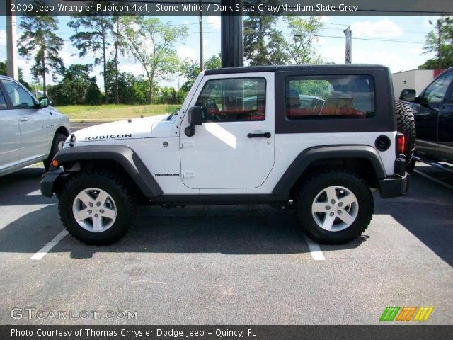
<svg viewBox="0 0 453 340">
<path fill-rule="evenodd" d="M 180 105 L 159 104 L 159 105 L 69 105 L 57 106 L 57 110 L 69 117 L 71 122 L 105 122 L 121 120 L 126 118 L 139 118 L 140 116 L 163 115 L 172 113 Z"/>
</svg>

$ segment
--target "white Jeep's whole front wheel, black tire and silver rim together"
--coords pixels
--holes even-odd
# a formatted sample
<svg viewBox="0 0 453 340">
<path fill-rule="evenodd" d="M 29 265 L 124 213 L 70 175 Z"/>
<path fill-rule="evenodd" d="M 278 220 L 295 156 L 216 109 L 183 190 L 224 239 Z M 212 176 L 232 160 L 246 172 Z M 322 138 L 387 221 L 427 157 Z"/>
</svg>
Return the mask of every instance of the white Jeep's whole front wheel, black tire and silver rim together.
<svg viewBox="0 0 453 340">
<path fill-rule="evenodd" d="M 59 198 L 64 227 L 86 244 L 113 244 L 134 220 L 130 190 L 114 175 L 81 173 L 71 178 Z"/>
</svg>

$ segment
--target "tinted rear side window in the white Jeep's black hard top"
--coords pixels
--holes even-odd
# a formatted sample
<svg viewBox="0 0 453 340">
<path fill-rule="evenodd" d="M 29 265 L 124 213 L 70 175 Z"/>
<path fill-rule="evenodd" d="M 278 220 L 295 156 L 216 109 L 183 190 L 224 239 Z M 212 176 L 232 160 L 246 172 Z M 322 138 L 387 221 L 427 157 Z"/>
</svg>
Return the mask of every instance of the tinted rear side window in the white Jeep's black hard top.
<svg viewBox="0 0 453 340">
<path fill-rule="evenodd" d="M 288 119 L 374 115 L 374 84 L 369 76 L 289 77 L 285 92 Z"/>
</svg>

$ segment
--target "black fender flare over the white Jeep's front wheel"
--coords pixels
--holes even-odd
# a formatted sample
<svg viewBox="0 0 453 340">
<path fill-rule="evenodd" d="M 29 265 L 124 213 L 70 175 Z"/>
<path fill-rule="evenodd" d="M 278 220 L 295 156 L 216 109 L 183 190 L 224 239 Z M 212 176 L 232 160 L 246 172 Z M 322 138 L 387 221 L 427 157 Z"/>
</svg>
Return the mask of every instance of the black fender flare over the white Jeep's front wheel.
<svg viewBox="0 0 453 340">
<path fill-rule="evenodd" d="M 142 162 L 142 159 L 138 157 L 134 150 L 124 145 L 65 147 L 57 152 L 54 159 L 59 164 L 88 160 L 115 161 L 125 169 L 145 197 L 152 198 L 161 196 L 164 193 L 147 166 Z M 51 166 L 50 170 L 56 170 L 56 168 Z"/>
</svg>

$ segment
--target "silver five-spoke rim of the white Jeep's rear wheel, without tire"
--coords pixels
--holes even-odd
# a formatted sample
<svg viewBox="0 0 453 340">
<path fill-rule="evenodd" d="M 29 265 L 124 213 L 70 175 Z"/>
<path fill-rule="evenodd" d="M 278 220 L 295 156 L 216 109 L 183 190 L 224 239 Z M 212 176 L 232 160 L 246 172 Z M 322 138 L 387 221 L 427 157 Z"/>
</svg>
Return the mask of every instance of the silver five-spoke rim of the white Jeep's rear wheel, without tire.
<svg viewBox="0 0 453 340">
<path fill-rule="evenodd" d="M 329 186 L 321 190 L 311 205 L 316 225 L 328 232 L 340 232 L 350 227 L 358 212 L 357 198 L 343 186 Z"/>
</svg>

